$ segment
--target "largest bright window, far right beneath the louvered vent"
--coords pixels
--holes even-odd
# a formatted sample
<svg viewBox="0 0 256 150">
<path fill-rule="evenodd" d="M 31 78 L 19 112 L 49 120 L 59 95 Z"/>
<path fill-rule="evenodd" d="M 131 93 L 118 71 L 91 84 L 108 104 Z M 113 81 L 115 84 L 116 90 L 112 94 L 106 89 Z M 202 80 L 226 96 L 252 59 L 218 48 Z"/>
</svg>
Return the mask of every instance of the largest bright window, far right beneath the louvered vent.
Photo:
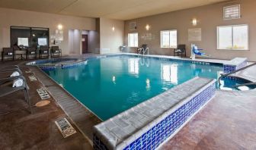
<svg viewBox="0 0 256 150">
<path fill-rule="evenodd" d="M 248 25 L 217 27 L 218 49 L 248 50 Z"/>
</svg>

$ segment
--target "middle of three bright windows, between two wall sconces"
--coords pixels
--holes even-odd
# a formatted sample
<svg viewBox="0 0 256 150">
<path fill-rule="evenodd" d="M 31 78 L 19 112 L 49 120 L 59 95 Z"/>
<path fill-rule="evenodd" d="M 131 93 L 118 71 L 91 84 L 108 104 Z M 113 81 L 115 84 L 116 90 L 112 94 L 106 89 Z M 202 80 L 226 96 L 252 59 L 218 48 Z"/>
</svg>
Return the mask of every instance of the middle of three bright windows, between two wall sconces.
<svg viewBox="0 0 256 150">
<path fill-rule="evenodd" d="M 161 31 L 161 48 L 177 48 L 177 30 Z"/>
</svg>

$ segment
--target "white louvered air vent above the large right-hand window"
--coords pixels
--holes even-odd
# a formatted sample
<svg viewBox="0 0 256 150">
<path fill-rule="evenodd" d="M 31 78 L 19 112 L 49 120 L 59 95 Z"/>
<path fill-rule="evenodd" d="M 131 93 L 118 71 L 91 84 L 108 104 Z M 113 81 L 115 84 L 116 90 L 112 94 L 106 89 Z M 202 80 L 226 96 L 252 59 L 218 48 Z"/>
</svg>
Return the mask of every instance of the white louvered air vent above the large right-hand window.
<svg viewBox="0 0 256 150">
<path fill-rule="evenodd" d="M 232 20 L 240 18 L 240 5 L 230 5 L 223 8 L 223 19 Z"/>
</svg>

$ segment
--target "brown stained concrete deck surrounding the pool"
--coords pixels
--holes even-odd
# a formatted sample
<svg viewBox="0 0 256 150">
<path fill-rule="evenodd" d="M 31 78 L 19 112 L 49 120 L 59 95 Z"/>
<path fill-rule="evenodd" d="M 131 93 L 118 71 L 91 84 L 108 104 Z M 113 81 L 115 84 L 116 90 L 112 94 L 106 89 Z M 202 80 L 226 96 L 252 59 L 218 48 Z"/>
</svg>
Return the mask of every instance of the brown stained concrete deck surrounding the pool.
<svg viewBox="0 0 256 150">
<path fill-rule="evenodd" d="M 19 64 L 23 72 L 31 70 L 40 80 L 30 82 L 27 79 L 33 105 L 40 99 L 34 87 L 45 87 L 52 97 L 50 105 L 33 107 L 34 114 L 27 111 L 22 92 L 0 98 L 0 149 L 91 149 L 91 127 L 101 120 L 38 68 L 24 67 L 24 61 L 1 62 L 0 67 L 12 64 Z M 256 66 L 237 75 L 256 81 L 255 74 Z M 25 77 L 28 75 L 24 73 Z M 205 108 L 158 149 L 256 149 L 255 108 L 256 90 L 219 90 Z M 64 139 L 54 124 L 61 117 L 66 117 L 78 133 Z"/>
</svg>

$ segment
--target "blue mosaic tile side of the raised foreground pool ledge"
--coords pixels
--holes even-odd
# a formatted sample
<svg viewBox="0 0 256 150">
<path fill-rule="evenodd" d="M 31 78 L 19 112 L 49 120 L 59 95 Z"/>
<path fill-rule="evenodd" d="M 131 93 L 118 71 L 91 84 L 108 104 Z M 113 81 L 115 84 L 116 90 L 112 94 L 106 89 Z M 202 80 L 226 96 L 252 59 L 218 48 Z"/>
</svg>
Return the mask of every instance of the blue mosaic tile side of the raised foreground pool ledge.
<svg viewBox="0 0 256 150">
<path fill-rule="evenodd" d="M 211 83 L 206 89 L 197 93 L 194 97 L 191 97 L 184 105 L 181 105 L 176 110 L 167 111 L 164 115 L 160 115 L 154 123 L 150 123 L 151 126 L 148 126 L 148 130 L 141 131 L 141 136 L 138 136 L 137 133 L 136 139 L 127 140 L 121 142 L 114 149 L 155 149 L 166 139 L 174 136 L 181 127 L 184 126 L 187 120 L 190 120 L 190 117 L 193 117 L 206 102 L 215 94 L 215 82 Z M 131 141 L 131 142 L 130 142 Z M 105 150 L 107 145 L 98 138 L 98 135 L 94 134 L 94 149 Z"/>
</svg>

